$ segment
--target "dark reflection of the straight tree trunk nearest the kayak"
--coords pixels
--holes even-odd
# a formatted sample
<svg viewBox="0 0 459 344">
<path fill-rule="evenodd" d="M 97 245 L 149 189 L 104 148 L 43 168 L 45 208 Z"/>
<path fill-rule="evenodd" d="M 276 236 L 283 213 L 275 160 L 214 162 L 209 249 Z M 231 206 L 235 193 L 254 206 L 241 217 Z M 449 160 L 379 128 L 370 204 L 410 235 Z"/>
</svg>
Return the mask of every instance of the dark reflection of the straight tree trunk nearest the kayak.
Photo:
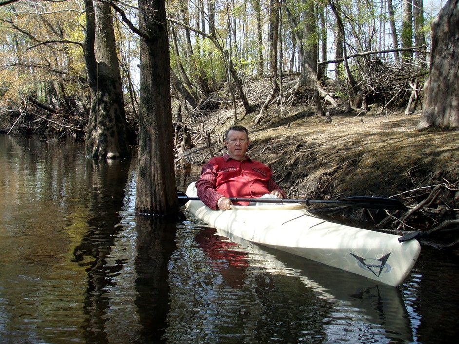
<svg viewBox="0 0 459 344">
<path fill-rule="evenodd" d="M 142 343 L 160 343 L 170 308 L 168 262 L 176 249 L 176 219 L 137 216 L 135 288 Z"/>
</svg>

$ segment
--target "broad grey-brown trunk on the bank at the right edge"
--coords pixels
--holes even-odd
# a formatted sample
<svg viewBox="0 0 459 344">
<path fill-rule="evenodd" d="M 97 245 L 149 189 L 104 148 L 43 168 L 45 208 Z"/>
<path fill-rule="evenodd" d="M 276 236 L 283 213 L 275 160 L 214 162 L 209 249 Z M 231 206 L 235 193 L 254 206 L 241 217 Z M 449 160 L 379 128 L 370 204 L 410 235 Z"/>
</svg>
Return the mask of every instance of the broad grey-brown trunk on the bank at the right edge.
<svg viewBox="0 0 459 344">
<path fill-rule="evenodd" d="M 459 127 L 459 0 L 449 0 L 432 22 L 432 58 L 416 129 Z"/>
</svg>

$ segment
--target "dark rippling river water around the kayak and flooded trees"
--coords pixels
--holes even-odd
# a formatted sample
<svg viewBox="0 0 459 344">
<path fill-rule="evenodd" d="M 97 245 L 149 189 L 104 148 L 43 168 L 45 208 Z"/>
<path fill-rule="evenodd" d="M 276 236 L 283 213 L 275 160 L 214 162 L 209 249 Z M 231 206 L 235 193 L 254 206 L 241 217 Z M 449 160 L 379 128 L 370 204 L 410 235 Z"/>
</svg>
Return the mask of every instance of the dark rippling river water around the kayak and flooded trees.
<svg viewBox="0 0 459 344">
<path fill-rule="evenodd" d="M 199 169 L 177 172 L 182 191 Z M 0 134 L 0 343 L 452 343 L 459 263 L 400 287 L 136 216 L 136 159 Z"/>
</svg>

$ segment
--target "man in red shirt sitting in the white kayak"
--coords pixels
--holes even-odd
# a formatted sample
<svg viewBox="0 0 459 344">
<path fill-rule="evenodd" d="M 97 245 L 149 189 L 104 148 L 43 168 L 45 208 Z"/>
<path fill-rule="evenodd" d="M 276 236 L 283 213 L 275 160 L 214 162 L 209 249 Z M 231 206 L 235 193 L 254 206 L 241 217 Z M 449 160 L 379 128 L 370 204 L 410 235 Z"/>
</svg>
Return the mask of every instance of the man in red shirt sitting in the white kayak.
<svg viewBox="0 0 459 344">
<path fill-rule="evenodd" d="M 197 195 L 206 206 L 229 210 L 233 203 L 227 197 L 259 198 L 271 194 L 286 198 L 285 191 L 274 182 L 271 169 L 246 155 L 249 144 L 249 133 L 243 126 L 235 125 L 226 131 L 228 153 L 204 164 L 196 182 Z"/>
</svg>

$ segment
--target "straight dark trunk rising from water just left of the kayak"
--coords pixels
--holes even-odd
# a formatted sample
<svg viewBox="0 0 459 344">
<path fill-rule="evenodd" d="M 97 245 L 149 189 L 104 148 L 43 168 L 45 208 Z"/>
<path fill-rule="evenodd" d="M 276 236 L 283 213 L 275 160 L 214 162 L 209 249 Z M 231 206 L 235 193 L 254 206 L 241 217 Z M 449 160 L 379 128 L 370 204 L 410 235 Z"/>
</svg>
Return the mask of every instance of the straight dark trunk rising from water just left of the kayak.
<svg viewBox="0 0 459 344">
<path fill-rule="evenodd" d="M 139 152 L 135 210 L 172 215 L 178 211 L 170 94 L 169 40 L 164 0 L 139 0 Z"/>
</svg>

